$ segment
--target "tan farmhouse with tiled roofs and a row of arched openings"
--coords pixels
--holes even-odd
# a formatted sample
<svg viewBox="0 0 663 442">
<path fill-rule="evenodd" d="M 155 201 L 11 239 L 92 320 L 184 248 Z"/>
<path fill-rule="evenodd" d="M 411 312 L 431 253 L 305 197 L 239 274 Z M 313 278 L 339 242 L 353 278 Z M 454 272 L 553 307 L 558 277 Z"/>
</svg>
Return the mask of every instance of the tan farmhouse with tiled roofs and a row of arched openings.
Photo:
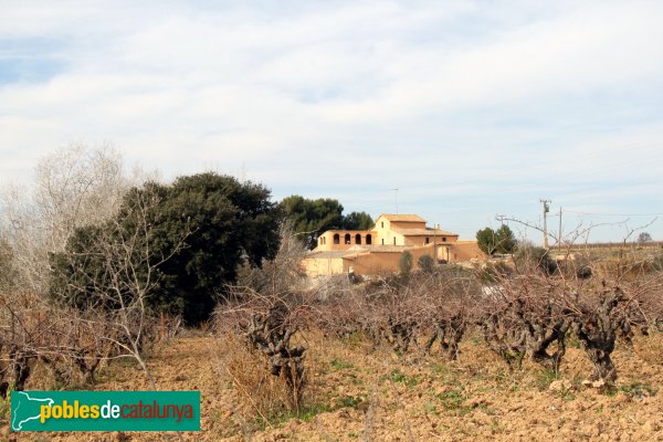
<svg viewBox="0 0 663 442">
<path fill-rule="evenodd" d="M 370 230 L 328 230 L 320 234 L 302 267 L 314 277 L 396 272 L 406 251 L 412 255 L 414 267 L 422 255 L 439 263 L 485 257 L 476 241 L 460 241 L 457 233 L 441 230 L 440 225 L 429 228 L 417 214 L 381 214 Z"/>
</svg>

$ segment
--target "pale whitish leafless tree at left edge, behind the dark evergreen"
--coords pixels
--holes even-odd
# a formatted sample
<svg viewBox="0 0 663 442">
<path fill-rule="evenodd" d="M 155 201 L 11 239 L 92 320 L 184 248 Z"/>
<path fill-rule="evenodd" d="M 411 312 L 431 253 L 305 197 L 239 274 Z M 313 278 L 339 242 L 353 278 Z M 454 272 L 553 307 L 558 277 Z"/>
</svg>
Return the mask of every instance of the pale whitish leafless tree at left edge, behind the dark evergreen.
<svg viewBox="0 0 663 442">
<path fill-rule="evenodd" d="M 33 187 L 6 189 L 0 224 L 21 287 L 45 293 L 49 253 L 61 252 L 76 228 L 108 219 L 141 176 L 127 175 L 120 155 L 107 146 L 71 146 L 39 161 Z"/>
</svg>

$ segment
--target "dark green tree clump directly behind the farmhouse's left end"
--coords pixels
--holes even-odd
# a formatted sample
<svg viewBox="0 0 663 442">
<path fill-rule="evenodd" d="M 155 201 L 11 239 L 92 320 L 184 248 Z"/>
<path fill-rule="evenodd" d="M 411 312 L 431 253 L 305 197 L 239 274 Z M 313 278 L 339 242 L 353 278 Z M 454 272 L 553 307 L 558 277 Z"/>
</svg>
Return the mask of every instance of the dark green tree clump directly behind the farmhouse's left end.
<svg viewBox="0 0 663 442">
<path fill-rule="evenodd" d="M 280 203 L 295 233 L 303 236 L 307 249 L 314 249 L 320 233 L 332 229 L 367 230 L 373 225 L 366 212 L 343 214 L 343 204 L 330 198 L 308 199 L 298 194 L 284 198 Z"/>
</svg>

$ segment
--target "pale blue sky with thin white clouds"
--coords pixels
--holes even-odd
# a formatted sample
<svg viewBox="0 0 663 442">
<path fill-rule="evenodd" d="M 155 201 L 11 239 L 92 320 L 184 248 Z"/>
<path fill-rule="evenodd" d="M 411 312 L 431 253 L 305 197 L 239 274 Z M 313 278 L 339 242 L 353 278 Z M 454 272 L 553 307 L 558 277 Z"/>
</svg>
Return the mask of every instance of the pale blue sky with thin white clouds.
<svg viewBox="0 0 663 442">
<path fill-rule="evenodd" d="M 0 186 L 110 145 L 462 239 L 548 199 L 552 234 L 561 208 L 566 234 L 663 240 L 661 23 L 655 0 L 0 0 Z"/>
</svg>

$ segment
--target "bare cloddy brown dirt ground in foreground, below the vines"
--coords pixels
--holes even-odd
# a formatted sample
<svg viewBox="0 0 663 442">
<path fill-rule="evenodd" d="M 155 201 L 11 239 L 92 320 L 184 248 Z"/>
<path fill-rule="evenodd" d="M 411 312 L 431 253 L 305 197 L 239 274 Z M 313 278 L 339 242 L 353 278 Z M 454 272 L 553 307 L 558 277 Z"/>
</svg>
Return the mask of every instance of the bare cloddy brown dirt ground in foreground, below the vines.
<svg viewBox="0 0 663 442">
<path fill-rule="evenodd" d="M 663 336 L 640 337 L 614 354 L 617 389 L 582 386 L 590 366 L 569 348 L 559 378 L 536 366 L 509 371 L 476 338 L 461 360 L 398 357 L 366 343 L 306 336 L 305 410 L 257 428 L 242 391 L 223 376 L 220 343 L 180 337 L 149 360 L 159 389 L 200 390 L 199 433 L 8 433 L 8 441 L 663 441 Z M 149 390 L 131 365 L 101 373 L 97 390 Z M 248 417 L 253 415 L 252 422 Z M 253 428 L 252 428 L 253 427 Z"/>
</svg>

